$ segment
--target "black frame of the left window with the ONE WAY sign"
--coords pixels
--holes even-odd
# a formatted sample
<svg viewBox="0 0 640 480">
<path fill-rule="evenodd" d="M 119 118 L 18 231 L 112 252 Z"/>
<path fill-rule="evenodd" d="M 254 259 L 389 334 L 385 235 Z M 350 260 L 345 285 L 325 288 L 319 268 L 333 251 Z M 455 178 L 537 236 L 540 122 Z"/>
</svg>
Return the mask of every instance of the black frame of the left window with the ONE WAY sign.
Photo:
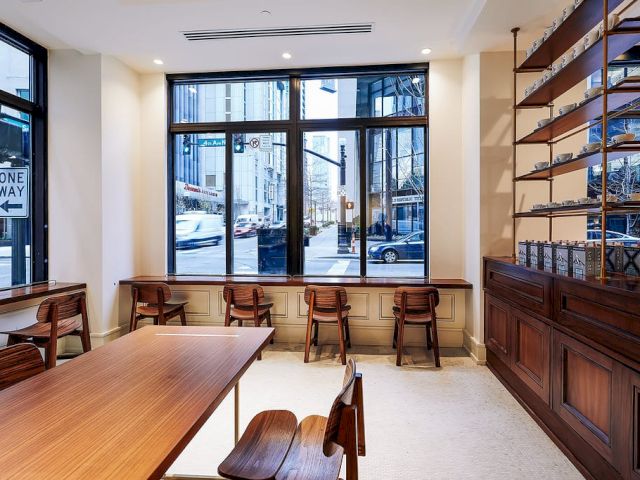
<svg viewBox="0 0 640 480">
<path fill-rule="evenodd" d="M 0 105 L 24 112 L 31 117 L 31 282 L 48 281 L 48 193 L 47 193 L 47 62 L 48 52 L 42 45 L 0 23 L 0 41 L 30 56 L 31 100 L 0 89 Z M 12 286 L 24 285 L 14 281 Z M 6 289 L 6 288 L 3 288 Z"/>
</svg>

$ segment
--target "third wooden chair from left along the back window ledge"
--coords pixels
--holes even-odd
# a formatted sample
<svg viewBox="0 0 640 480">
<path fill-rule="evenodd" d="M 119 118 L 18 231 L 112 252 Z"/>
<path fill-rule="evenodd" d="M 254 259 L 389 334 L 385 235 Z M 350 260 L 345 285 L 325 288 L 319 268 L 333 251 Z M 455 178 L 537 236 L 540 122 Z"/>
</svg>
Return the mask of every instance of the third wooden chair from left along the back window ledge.
<svg viewBox="0 0 640 480">
<path fill-rule="evenodd" d="M 313 345 L 318 346 L 318 328 L 320 323 L 338 325 L 338 344 L 342 364 L 347 364 L 346 348 L 351 348 L 349 333 L 349 310 L 347 291 L 344 287 L 318 287 L 309 285 L 304 290 L 304 301 L 309 306 L 307 315 L 307 338 L 304 346 L 304 363 L 309 362 L 311 349 L 311 330 L 313 327 Z M 345 347 L 346 343 L 346 347 Z"/>
</svg>

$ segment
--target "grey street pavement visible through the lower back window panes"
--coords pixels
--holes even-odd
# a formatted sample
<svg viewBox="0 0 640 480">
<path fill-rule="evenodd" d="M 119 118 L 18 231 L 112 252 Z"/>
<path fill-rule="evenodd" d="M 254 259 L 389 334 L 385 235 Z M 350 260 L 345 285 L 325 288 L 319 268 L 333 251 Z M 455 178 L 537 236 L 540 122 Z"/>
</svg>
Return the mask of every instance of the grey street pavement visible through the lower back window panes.
<svg viewBox="0 0 640 480">
<path fill-rule="evenodd" d="M 305 247 L 305 274 L 307 275 L 359 275 L 359 241 L 356 241 L 356 253 L 337 253 L 338 227 L 333 225 L 323 229 L 315 237 L 309 239 Z M 367 242 L 367 248 L 380 243 Z M 258 273 L 258 238 L 234 239 L 235 273 Z M 178 250 L 176 254 L 177 272 L 181 274 L 222 274 L 225 271 L 224 240 L 217 246 Z M 385 264 L 368 261 L 369 276 L 422 276 L 423 262 L 399 261 Z"/>
</svg>

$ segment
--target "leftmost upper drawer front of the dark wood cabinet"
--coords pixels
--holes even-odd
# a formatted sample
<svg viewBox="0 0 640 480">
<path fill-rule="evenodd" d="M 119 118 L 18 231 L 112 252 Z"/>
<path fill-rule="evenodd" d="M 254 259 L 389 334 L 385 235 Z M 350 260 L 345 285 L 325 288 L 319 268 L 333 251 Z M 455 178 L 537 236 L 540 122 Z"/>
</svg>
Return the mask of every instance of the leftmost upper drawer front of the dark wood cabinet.
<svg viewBox="0 0 640 480">
<path fill-rule="evenodd" d="M 484 286 L 498 297 L 508 298 L 529 311 L 551 318 L 553 280 L 548 275 L 518 265 L 487 261 Z"/>
</svg>

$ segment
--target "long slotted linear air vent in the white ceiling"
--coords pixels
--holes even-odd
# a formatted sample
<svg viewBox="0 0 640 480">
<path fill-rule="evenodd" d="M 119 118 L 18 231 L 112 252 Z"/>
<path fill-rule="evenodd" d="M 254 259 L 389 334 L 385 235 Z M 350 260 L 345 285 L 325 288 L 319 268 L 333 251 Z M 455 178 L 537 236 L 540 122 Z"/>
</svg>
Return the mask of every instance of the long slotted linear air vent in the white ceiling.
<svg viewBox="0 0 640 480">
<path fill-rule="evenodd" d="M 341 25 L 312 25 L 303 27 L 248 28 L 234 30 L 190 30 L 182 32 L 189 41 L 228 40 L 235 38 L 296 37 L 303 35 L 343 35 L 371 33 L 372 23 L 346 23 Z"/>
</svg>

